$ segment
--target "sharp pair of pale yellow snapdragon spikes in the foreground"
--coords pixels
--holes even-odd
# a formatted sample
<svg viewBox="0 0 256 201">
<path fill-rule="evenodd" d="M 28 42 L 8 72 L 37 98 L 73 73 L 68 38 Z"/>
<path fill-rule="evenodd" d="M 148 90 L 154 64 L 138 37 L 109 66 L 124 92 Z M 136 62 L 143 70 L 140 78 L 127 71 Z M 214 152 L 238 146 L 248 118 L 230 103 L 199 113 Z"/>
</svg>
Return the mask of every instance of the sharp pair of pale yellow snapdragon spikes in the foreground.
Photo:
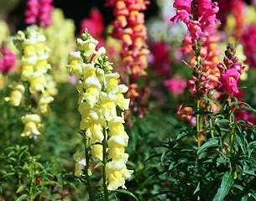
<svg viewBox="0 0 256 201">
<path fill-rule="evenodd" d="M 76 176 L 86 173 L 92 200 L 89 159 L 102 161 L 101 183 L 105 200 L 108 200 L 108 191 L 125 188 L 125 180 L 133 173 L 126 168 L 128 154 L 124 147 L 128 146 L 128 135 L 124 131 L 123 115 L 117 113 L 117 106 L 122 111 L 128 110 L 129 99 L 123 97 L 128 87 L 118 85 L 119 75 L 112 72 L 105 49 L 96 50 L 98 41 L 87 33 L 87 29 L 76 44 L 79 50 L 71 52 L 71 62 L 66 66 L 70 75 L 76 75 L 80 128 L 86 138 L 86 152 L 77 152 L 74 156 Z"/>
</svg>

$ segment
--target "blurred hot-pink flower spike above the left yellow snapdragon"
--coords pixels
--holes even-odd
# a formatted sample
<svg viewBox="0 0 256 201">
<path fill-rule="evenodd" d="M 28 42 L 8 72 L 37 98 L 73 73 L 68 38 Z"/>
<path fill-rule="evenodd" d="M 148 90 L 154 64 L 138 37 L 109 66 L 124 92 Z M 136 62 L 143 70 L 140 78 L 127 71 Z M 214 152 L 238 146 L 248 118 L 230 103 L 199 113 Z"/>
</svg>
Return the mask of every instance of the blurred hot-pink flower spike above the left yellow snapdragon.
<svg viewBox="0 0 256 201">
<path fill-rule="evenodd" d="M 25 11 L 25 23 L 38 24 L 40 27 L 51 25 L 51 5 L 53 0 L 28 0 L 27 10 Z"/>
</svg>

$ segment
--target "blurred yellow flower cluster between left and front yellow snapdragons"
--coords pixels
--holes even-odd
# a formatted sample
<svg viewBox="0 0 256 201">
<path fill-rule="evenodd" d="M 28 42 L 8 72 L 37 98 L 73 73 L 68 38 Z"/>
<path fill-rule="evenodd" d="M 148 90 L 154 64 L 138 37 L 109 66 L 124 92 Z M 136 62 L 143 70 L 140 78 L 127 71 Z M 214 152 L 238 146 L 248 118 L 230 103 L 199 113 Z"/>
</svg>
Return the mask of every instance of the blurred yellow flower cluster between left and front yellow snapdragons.
<svg viewBox="0 0 256 201">
<path fill-rule="evenodd" d="M 55 8 L 51 16 L 53 18 L 50 27 L 41 28 L 40 33 L 46 37 L 45 44 L 50 49 L 49 62 L 52 66 L 52 74 L 57 82 L 66 82 L 68 73 L 65 65 L 69 60 L 67 55 L 76 49 L 75 24 L 71 19 L 66 19 L 60 8 Z"/>
</svg>

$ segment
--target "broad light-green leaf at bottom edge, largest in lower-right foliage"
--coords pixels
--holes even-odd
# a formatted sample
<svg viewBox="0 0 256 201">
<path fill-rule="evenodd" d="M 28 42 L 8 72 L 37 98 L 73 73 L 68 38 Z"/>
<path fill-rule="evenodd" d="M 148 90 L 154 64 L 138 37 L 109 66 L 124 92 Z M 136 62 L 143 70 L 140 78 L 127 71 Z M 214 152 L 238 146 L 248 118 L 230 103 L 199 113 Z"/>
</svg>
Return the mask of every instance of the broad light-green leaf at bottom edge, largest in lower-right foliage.
<svg viewBox="0 0 256 201">
<path fill-rule="evenodd" d="M 212 201 L 222 201 L 232 187 L 233 182 L 234 178 L 232 171 L 226 172 L 222 178 L 221 187 L 217 189 L 217 194 Z"/>
</svg>

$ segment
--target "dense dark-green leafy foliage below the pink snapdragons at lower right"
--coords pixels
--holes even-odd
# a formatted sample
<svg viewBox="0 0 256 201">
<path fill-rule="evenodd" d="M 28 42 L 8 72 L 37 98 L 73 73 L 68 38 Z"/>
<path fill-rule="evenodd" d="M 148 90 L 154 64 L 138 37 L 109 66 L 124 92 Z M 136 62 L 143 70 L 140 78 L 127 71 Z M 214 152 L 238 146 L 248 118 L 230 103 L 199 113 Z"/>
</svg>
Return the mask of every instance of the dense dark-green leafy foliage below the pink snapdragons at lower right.
<svg viewBox="0 0 256 201">
<path fill-rule="evenodd" d="M 168 142 L 156 148 L 155 152 L 160 154 L 154 156 L 159 158 L 164 171 L 154 175 L 161 174 L 169 178 L 166 178 L 168 188 L 162 192 L 166 198 L 254 200 L 256 133 L 250 122 L 235 121 L 232 112 L 255 110 L 236 99 L 223 108 L 222 113 L 216 114 L 197 112 L 201 120 L 207 122 L 201 131 L 204 134 L 201 147 L 196 147 L 196 143 L 191 141 L 196 135 L 195 129 L 185 128 L 175 140 L 169 138 Z M 193 116 L 196 116 L 194 111 Z M 208 126 L 211 118 L 212 127 Z M 210 136 L 210 131 L 214 131 L 214 137 Z M 159 194 L 161 192 L 155 196 Z"/>
</svg>

